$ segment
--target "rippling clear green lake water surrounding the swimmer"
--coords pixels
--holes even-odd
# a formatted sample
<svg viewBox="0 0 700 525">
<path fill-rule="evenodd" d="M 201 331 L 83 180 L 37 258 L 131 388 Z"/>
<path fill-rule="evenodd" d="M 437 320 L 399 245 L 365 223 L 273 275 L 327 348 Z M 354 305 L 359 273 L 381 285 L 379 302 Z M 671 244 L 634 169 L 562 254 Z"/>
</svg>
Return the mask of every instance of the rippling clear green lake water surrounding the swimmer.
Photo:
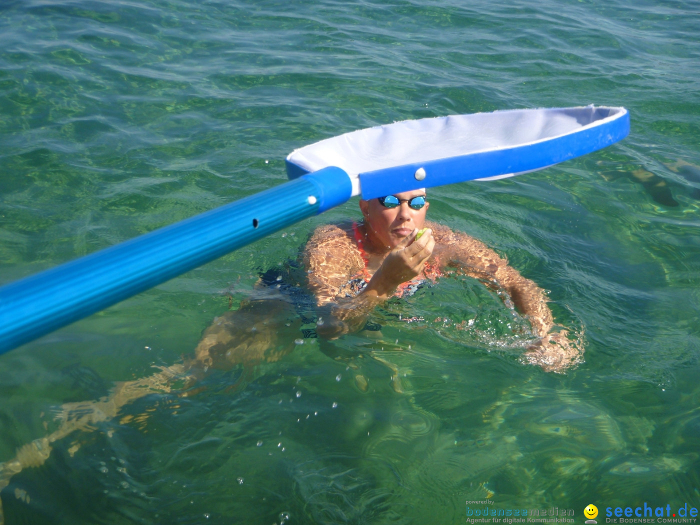
<svg viewBox="0 0 700 525">
<path fill-rule="evenodd" d="M 442 279 L 377 311 L 379 339 L 302 339 L 57 440 L 0 493 L 6 524 L 700 507 L 699 35 L 694 0 L 0 3 L 0 283 L 276 186 L 290 151 L 362 127 L 631 114 L 603 151 L 430 190 L 433 221 L 549 290 L 585 341 L 575 370 L 521 363 L 522 320 Z M 359 217 L 353 199 L 0 356 L 0 462 L 55 430 L 62 404 L 182 363 L 259 272 Z"/>
</svg>

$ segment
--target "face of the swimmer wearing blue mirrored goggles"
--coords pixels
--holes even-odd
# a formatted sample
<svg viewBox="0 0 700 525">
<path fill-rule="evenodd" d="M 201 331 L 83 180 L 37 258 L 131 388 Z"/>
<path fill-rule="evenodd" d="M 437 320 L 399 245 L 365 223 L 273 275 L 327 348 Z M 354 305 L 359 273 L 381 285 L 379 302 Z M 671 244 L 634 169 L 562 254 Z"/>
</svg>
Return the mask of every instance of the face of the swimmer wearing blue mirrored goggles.
<svg viewBox="0 0 700 525">
<path fill-rule="evenodd" d="M 394 193 L 401 201 L 398 207 L 386 208 L 381 205 L 379 199 L 360 200 L 360 209 L 365 216 L 367 235 L 374 246 L 395 248 L 407 235 L 411 235 L 414 228 L 421 230 L 426 222 L 426 211 L 430 203 L 421 209 L 412 209 L 408 200 L 419 195 L 426 195 L 426 190 L 405 191 Z"/>
</svg>

